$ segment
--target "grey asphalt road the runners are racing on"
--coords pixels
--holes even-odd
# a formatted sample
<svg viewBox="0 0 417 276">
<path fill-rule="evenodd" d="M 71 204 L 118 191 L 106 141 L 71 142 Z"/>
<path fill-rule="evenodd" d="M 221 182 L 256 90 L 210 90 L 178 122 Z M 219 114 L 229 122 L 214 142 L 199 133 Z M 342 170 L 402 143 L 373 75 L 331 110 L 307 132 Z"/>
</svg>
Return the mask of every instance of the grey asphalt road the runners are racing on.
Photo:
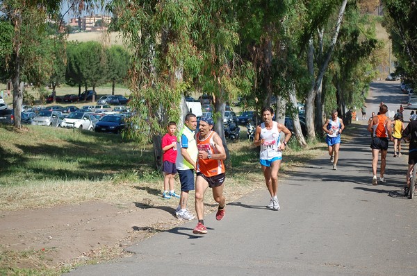
<svg viewBox="0 0 417 276">
<path fill-rule="evenodd" d="M 374 83 L 368 116 L 381 101 L 396 110 L 406 99 L 398 82 Z M 342 139 L 338 171 L 323 153 L 280 180 L 278 212 L 265 209 L 265 188 L 229 202 L 222 221 L 206 216 L 208 234 L 193 234 L 192 221 L 128 248 L 132 257 L 69 274 L 417 275 L 417 200 L 402 191 L 406 150 L 394 158 L 390 144 L 386 183 L 373 186 L 366 122 L 347 131 L 355 139 Z"/>
</svg>

